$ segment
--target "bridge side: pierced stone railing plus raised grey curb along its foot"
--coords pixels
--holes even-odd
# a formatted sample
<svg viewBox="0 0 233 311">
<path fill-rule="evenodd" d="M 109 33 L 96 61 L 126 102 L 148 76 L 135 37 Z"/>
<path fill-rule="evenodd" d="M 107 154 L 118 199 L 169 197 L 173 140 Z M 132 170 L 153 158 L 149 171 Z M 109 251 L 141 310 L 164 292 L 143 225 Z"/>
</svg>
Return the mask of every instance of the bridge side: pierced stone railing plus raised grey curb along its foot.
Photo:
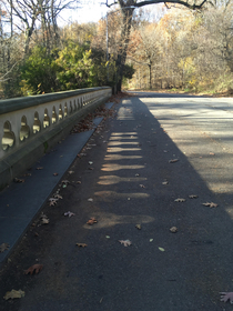
<svg viewBox="0 0 233 311">
<path fill-rule="evenodd" d="M 0 252 L 0 263 L 103 118 L 95 118 L 88 132 L 68 136 L 70 130 L 111 94 L 102 87 L 0 101 L 0 244 L 10 245 Z M 8 188 L 12 180 L 17 184 Z"/>
</svg>

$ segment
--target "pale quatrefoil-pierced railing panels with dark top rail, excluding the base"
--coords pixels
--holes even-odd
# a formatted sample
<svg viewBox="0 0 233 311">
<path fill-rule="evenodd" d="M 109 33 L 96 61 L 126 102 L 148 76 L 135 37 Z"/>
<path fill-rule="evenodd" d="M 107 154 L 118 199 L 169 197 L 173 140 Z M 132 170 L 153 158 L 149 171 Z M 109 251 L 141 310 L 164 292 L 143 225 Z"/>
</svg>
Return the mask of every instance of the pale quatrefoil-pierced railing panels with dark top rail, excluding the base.
<svg viewBox="0 0 233 311">
<path fill-rule="evenodd" d="M 59 94 L 67 97 L 61 98 Z M 108 96 L 111 96 L 111 88 L 83 89 L 0 101 L 0 159 L 64 119 L 78 114 L 84 107 Z M 12 106 L 17 110 L 12 111 Z"/>
</svg>

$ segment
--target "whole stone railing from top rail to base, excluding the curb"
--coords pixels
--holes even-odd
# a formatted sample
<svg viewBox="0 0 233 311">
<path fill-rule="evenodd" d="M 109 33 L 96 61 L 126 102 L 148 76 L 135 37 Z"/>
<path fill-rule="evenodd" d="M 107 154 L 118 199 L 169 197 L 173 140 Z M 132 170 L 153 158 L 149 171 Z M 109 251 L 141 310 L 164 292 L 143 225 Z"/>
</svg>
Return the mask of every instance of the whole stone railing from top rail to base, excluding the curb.
<svg viewBox="0 0 233 311">
<path fill-rule="evenodd" d="M 103 87 L 1 100 L 0 189 L 26 169 L 22 165 L 26 152 L 27 158 L 39 147 L 44 152 L 54 143 L 55 137 L 59 140 L 74 122 L 107 101 L 111 93 L 111 88 Z"/>
</svg>

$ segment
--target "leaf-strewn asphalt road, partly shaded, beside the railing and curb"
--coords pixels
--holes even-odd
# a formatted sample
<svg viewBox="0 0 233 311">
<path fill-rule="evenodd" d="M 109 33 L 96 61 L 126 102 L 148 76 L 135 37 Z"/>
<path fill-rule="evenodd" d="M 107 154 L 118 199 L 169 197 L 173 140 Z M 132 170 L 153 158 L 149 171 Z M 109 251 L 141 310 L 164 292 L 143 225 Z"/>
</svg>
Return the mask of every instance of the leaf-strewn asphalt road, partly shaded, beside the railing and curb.
<svg viewBox="0 0 233 311">
<path fill-rule="evenodd" d="M 233 310 L 232 99 L 139 92 L 115 110 L 10 257 L 0 310 Z"/>
</svg>

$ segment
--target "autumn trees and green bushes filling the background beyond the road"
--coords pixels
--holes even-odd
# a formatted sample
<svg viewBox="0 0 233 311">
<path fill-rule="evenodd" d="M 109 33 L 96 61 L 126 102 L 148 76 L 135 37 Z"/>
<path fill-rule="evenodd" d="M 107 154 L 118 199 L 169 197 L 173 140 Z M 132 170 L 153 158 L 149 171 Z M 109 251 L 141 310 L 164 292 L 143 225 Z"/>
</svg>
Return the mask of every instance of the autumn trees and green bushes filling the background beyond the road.
<svg viewBox="0 0 233 311">
<path fill-rule="evenodd" d="M 30 2 L 34 7 L 27 16 L 20 3 L 6 0 L 0 6 L 1 99 L 119 81 L 124 89 L 233 94 L 231 0 L 205 4 L 204 10 L 179 4 L 128 9 L 130 21 L 121 4 L 111 7 L 108 47 L 107 19 L 59 27 L 58 16 L 72 2 L 61 8 L 54 0 L 42 7 L 43 1 Z"/>
</svg>

